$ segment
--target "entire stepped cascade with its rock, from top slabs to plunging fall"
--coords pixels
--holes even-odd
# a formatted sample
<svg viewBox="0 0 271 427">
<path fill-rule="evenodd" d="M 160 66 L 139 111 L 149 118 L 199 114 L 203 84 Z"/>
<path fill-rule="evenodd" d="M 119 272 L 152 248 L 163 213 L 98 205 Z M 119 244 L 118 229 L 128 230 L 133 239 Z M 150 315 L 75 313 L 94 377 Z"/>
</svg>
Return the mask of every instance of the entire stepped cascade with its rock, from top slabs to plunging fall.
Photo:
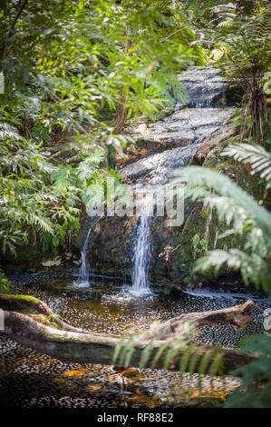
<svg viewBox="0 0 271 427">
<path fill-rule="evenodd" d="M 136 144 L 127 150 L 132 148 L 136 154 L 131 150 L 133 154 L 117 169 L 131 194 L 153 195 L 152 221 L 147 220 L 150 215 L 142 220 L 129 214 L 103 217 L 92 228 L 86 248 L 93 267 L 109 271 L 124 269 L 130 273 L 133 292 L 139 292 L 139 287 L 140 292 L 148 292 L 149 278 L 159 279 L 165 272 L 170 279 L 182 275 L 179 263 L 173 261 L 174 266 L 168 268 L 160 253 L 166 246 L 178 244 L 175 240 L 181 232 L 181 224 L 185 223 L 193 206 L 187 202 L 183 204 L 184 215 L 179 214 L 179 222 L 169 226 L 168 206 L 161 202 L 160 194 L 167 194 L 173 172 L 187 166 L 202 144 L 212 138 L 216 138 L 218 144 L 228 137 L 229 122 L 236 111 L 234 106 L 227 104 L 227 81 L 217 68 L 189 67 L 179 74 L 179 83 L 185 86 L 189 103 L 175 99 L 171 114 L 155 123 L 133 124 L 127 133 Z M 179 197 L 179 206 L 182 202 Z M 165 207 L 162 214 L 158 214 L 159 203 L 160 208 Z M 85 235 L 88 230 L 87 227 Z M 144 239 L 145 248 L 141 244 Z"/>
</svg>

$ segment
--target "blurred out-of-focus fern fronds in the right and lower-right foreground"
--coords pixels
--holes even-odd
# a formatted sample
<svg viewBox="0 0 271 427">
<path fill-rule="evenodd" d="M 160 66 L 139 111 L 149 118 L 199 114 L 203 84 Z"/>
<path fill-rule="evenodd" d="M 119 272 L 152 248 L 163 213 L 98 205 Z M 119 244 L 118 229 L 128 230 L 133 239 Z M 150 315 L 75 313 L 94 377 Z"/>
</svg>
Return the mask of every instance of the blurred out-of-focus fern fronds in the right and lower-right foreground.
<svg viewBox="0 0 271 427">
<path fill-rule="evenodd" d="M 270 155 L 260 146 L 237 144 L 227 148 L 224 155 L 231 155 L 235 158 L 252 163 L 252 169 L 260 173 L 262 178 L 269 185 Z M 230 248 L 228 251 L 214 250 L 206 256 L 199 258 L 195 264 L 194 273 L 205 272 L 210 268 L 215 271 L 227 263 L 230 268 L 240 269 L 244 282 L 252 280 L 256 286 L 262 288 L 271 298 L 271 269 L 270 269 L 270 249 L 271 249 L 271 215 L 266 209 L 257 204 L 249 194 L 241 190 L 237 184 L 233 183 L 227 176 L 217 172 L 204 169 L 198 166 L 189 166 L 175 172 L 175 184 L 187 183 L 186 194 L 193 200 L 200 200 L 210 212 L 216 209 L 218 221 L 226 222 L 231 226 L 229 230 L 222 233 L 218 238 L 223 238 L 229 234 L 240 234 L 246 238 L 244 250 Z M 199 234 L 195 234 L 193 244 L 197 251 Z M 246 252 L 245 252 L 246 251 Z M 198 343 L 193 342 L 191 325 L 184 325 L 174 337 L 160 343 L 157 353 L 153 353 L 155 345 L 152 342 L 153 336 L 160 340 L 159 324 L 151 326 L 151 340 L 145 347 L 141 355 L 141 367 L 152 358 L 151 366 L 155 367 L 156 362 L 163 355 L 164 367 L 169 367 L 169 362 L 180 352 L 184 352 L 180 362 L 180 372 L 188 370 L 194 372 L 198 361 Z M 115 360 L 120 356 L 120 361 L 128 365 L 137 343 L 149 338 L 149 332 L 132 334 L 131 337 L 124 336 L 117 346 Z M 249 344 L 250 343 L 250 344 Z M 240 352 L 252 351 L 256 353 L 256 361 L 248 363 L 238 371 L 232 372 L 244 374 L 244 381 L 228 401 L 228 406 L 260 406 L 270 407 L 270 336 L 256 336 L 242 346 Z M 258 357 L 259 356 L 259 357 Z M 208 363 L 212 360 L 208 369 Z M 206 357 L 200 362 L 199 373 L 215 375 L 223 367 L 223 356 L 218 348 L 211 348 Z M 199 375 L 199 381 L 200 381 Z M 260 392 L 259 392 L 260 391 Z M 256 392 L 259 392 L 254 400 Z M 252 403 L 253 402 L 253 403 Z"/>
</svg>

